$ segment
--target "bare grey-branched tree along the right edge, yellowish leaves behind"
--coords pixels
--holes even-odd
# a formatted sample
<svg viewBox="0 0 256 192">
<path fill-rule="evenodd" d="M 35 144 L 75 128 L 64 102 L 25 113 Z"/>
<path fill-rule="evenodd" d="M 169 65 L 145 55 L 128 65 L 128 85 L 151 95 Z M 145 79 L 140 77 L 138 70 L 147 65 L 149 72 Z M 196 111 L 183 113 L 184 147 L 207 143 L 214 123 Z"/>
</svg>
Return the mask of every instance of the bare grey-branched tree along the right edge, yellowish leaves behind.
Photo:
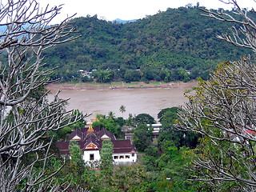
<svg viewBox="0 0 256 192">
<path fill-rule="evenodd" d="M 247 10 L 234 5 L 230 14 L 204 10 L 206 16 L 234 22 L 230 33 L 218 38 L 256 50 L 256 25 Z M 241 18 L 241 20 L 239 20 Z M 238 27 L 239 26 L 239 27 Z M 218 67 L 209 81 L 187 93 L 190 102 L 179 112 L 176 126 L 204 135 L 190 169 L 194 180 L 215 186 L 233 182 L 238 191 L 256 190 L 256 63 L 250 56 Z M 234 190 L 233 189 L 233 190 Z"/>
</svg>

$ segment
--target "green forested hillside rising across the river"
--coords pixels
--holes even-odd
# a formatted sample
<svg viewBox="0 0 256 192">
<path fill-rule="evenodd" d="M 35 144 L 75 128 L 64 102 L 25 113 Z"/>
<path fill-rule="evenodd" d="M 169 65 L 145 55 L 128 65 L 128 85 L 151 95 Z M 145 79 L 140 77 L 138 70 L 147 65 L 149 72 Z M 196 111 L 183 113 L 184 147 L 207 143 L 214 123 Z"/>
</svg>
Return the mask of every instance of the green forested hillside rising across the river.
<svg viewBox="0 0 256 192">
<path fill-rule="evenodd" d="M 136 22 L 106 22 L 97 15 L 74 18 L 81 38 L 45 53 L 46 67 L 60 66 L 52 78 L 89 81 L 78 70 L 97 70 L 98 82 L 166 81 L 209 77 L 219 62 L 234 61 L 240 50 L 216 38 L 232 23 L 203 17 L 198 7 L 168 9 Z"/>
</svg>

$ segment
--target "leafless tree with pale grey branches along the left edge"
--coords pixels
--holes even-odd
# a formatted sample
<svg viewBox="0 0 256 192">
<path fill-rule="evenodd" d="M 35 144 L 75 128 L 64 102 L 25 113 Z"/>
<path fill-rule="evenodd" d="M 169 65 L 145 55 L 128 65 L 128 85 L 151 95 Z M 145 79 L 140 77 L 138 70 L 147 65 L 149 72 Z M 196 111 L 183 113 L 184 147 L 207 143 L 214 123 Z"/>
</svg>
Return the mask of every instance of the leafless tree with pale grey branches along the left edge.
<svg viewBox="0 0 256 192">
<path fill-rule="evenodd" d="M 50 26 L 61 9 L 62 6 L 41 8 L 36 0 L 0 2 L 0 50 L 6 55 L 6 62 L 0 62 L 1 191 L 59 189 L 49 180 L 58 170 L 46 173 L 50 142 L 45 136 L 82 117 L 67 112 L 63 108 L 66 101 L 58 94 L 53 102 L 47 101 L 47 93 L 41 93 L 38 99 L 32 94 L 50 82 L 48 75 L 53 69 L 43 68 L 43 50 L 76 38 L 70 36 L 74 34 L 70 18 Z M 24 164 L 26 155 L 31 153 L 35 160 Z M 35 172 L 37 162 L 42 162 L 42 167 Z"/>
</svg>

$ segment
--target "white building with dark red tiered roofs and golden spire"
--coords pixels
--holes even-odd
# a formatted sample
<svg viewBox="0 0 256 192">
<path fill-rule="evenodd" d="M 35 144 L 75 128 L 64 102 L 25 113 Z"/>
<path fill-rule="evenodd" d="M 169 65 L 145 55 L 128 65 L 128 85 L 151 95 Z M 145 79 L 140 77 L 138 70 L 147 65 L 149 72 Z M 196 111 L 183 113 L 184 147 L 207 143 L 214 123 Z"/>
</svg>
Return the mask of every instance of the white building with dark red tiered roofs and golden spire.
<svg viewBox="0 0 256 192">
<path fill-rule="evenodd" d="M 78 146 L 82 150 L 83 160 L 87 162 L 98 162 L 100 160 L 100 150 L 102 141 L 110 139 L 113 143 L 113 160 L 115 164 L 131 163 L 137 161 L 137 150 L 132 145 L 130 140 L 116 140 L 114 134 L 105 129 L 82 127 L 81 130 L 74 130 L 66 141 L 57 142 L 56 146 L 62 155 L 69 155 L 70 141 L 78 142 Z"/>
</svg>

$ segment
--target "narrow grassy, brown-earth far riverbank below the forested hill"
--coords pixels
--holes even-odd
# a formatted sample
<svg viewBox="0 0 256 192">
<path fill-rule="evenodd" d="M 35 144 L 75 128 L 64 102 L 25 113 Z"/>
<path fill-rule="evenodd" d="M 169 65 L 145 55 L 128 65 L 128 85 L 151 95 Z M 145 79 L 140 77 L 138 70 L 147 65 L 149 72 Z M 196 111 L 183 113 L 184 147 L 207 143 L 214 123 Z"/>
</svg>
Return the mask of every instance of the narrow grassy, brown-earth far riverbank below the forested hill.
<svg viewBox="0 0 256 192">
<path fill-rule="evenodd" d="M 82 82 L 50 83 L 49 90 L 126 90 L 126 89 L 189 89 L 198 86 L 198 82 Z"/>
</svg>

